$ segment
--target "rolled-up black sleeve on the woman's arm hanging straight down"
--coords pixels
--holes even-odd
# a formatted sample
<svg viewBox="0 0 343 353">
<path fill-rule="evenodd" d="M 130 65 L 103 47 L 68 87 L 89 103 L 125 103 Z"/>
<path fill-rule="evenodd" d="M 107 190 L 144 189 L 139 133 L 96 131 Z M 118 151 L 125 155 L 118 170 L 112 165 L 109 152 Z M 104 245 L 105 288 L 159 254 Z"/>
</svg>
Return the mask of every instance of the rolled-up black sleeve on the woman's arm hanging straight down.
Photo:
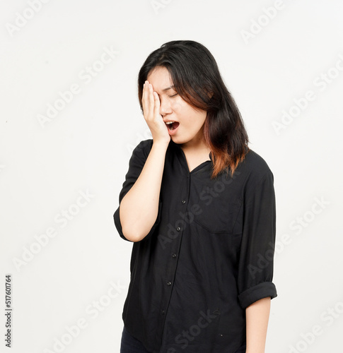
<svg viewBox="0 0 343 353">
<path fill-rule="evenodd" d="M 238 262 L 238 300 L 243 309 L 277 297 L 272 282 L 276 236 L 274 177 L 269 171 L 245 191 L 243 232 Z"/>
</svg>

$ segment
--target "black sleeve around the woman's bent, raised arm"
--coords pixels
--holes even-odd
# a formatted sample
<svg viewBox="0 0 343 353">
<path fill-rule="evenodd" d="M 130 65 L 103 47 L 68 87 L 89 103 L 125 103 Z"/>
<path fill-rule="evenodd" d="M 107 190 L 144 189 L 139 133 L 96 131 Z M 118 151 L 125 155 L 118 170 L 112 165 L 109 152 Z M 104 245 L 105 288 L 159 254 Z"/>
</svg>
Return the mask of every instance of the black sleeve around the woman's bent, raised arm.
<svg viewBox="0 0 343 353">
<path fill-rule="evenodd" d="M 141 170 L 143 169 L 146 159 L 150 152 L 148 148 L 149 147 L 148 143 L 149 143 L 149 140 L 141 141 L 141 143 L 139 143 L 139 145 L 137 145 L 132 152 L 132 156 L 129 160 L 129 170 L 125 175 L 125 181 L 122 184 L 122 190 L 120 191 L 120 194 L 119 194 L 119 206 L 117 210 L 115 210 L 115 213 L 113 215 L 113 219 L 115 221 L 115 227 L 117 228 L 117 231 L 120 237 L 122 237 L 122 239 L 127 241 L 129 241 L 129 239 L 124 237 L 124 234 L 122 232 L 122 224 L 120 222 L 120 203 L 122 202 L 122 199 L 124 198 L 124 196 L 132 188 L 136 180 L 139 178 L 139 175 L 141 174 Z M 150 145 L 150 148 L 151 148 L 151 145 Z M 162 202 L 160 199 L 158 204 L 158 216 L 156 218 L 156 222 L 154 223 L 153 227 L 151 227 L 149 234 L 146 234 L 145 238 L 153 234 L 156 227 L 158 226 L 161 218 L 161 208 L 162 208 Z"/>
</svg>

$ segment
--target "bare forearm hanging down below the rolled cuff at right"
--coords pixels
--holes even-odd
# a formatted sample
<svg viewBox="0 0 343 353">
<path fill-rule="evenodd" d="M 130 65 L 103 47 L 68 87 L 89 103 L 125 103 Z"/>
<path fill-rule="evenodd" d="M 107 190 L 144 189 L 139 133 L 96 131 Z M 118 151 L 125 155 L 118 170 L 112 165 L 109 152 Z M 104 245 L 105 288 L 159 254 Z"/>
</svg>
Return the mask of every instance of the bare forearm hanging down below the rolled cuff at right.
<svg viewBox="0 0 343 353">
<path fill-rule="evenodd" d="M 247 326 L 246 353 L 264 353 L 270 312 L 270 297 L 262 298 L 245 309 Z"/>
</svg>

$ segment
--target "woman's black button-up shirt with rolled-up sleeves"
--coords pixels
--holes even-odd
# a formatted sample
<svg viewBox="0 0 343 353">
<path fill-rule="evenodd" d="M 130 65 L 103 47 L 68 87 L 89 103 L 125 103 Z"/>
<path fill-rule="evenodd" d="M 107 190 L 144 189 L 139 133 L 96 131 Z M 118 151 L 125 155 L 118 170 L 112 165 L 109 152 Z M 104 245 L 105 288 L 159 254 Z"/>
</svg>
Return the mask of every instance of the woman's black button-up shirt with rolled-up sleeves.
<svg viewBox="0 0 343 353">
<path fill-rule="evenodd" d="M 153 140 L 134 148 L 119 202 L 139 177 Z M 245 308 L 277 297 L 272 282 L 274 177 L 250 150 L 231 177 L 211 180 L 210 160 L 191 172 L 170 140 L 149 234 L 133 243 L 124 325 L 153 353 L 235 353 L 245 344 Z M 119 207 L 115 226 L 122 234 Z"/>
</svg>

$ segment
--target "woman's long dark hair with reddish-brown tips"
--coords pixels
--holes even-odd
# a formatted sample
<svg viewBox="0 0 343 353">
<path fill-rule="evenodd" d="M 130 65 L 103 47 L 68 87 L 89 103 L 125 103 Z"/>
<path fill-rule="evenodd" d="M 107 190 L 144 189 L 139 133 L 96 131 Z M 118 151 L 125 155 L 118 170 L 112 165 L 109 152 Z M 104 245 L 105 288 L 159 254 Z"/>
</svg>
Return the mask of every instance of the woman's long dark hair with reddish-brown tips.
<svg viewBox="0 0 343 353">
<path fill-rule="evenodd" d="M 141 110 L 143 85 L 156 66 L 167 68 L 175 91 L 185 102 L 207 112 L 204 139 L 211 150 L 214 167 L 211 179 L 224 169 L 231 175 L 247 154 L 248 133 L 243 119 L 223 83 L 214 56 L 204 45 L 192 40 L 173 40 L 149 54 L 138 75 Z"/>
</svg>

